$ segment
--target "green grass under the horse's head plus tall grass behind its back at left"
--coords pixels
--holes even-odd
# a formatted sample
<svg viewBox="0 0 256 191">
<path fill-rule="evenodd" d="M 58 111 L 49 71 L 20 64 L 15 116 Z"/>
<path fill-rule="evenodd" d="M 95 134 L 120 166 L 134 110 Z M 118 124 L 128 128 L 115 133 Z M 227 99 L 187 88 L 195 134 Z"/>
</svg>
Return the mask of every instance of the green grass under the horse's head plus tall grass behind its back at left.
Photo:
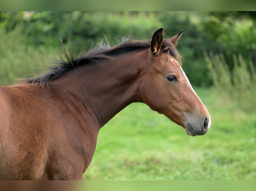
<svg viewBox="0 0 256 191">
<path fill-rule="evenodd" d="M 38 73 L 44 67 L 37 62 L 48 65 L 58 58 L 57 49 L 27 47 L 17 33 L 0 34 L 0 85 Z M 256 113 L 241 111 L 213 89 L 195 90 L 212 116 L 206 135 L 190 137 L 147 105 L 131 104 L 100 130 L 84 179 L 256 179 Z"/>
</svg>

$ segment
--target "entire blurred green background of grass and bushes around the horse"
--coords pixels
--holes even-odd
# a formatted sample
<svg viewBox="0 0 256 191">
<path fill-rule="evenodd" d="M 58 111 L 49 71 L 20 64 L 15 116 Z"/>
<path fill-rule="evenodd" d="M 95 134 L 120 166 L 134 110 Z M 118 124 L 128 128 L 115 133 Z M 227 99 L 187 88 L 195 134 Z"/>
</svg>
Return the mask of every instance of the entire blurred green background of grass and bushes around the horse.
<svg viewBox="0 0 256 191">
<path fill-rule="evenodd" d="M 60 39 L 79 53 L 103 40 L 150 40 L 158 28 L 212 115 L 204 136 L 134 103 L 100 130 L 86 180 L 256 178 L 256 12 L 0 12 L 0 85 L 44 74 Z M 106 41 L 106 39 L 107 41 Z"/>
</svg>

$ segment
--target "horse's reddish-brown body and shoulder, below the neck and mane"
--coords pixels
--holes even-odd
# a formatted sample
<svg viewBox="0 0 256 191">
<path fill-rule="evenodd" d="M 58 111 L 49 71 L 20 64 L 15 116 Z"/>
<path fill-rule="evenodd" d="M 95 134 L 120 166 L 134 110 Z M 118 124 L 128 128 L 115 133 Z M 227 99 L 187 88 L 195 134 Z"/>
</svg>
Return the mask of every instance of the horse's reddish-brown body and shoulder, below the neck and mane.
<svg viewBox="0 0 256 191">
<path fill-rule="evenodd" d="M 0 87 L 0 179 L 81 179 L 97 134 L 72 112 L 54 88 Z"/>
</svg>

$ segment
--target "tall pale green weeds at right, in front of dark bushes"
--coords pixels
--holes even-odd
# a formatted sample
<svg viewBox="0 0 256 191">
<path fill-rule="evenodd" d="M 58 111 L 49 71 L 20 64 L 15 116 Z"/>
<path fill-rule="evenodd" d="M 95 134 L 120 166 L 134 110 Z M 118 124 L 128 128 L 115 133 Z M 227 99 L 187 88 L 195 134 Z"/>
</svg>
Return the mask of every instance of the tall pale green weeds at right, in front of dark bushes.
<svg viewBox="0 0 256 191">
<path fill-rule="evenodd" d="M 234 55 L 230 72 L 223 54 L 208 56 L 205 52 L 204 56 L 219 99 L 229 100 L 245 111 L 256 111 L 256 73 L 252 62 L 247 64 L 241 54 Z"/>
</svg>

